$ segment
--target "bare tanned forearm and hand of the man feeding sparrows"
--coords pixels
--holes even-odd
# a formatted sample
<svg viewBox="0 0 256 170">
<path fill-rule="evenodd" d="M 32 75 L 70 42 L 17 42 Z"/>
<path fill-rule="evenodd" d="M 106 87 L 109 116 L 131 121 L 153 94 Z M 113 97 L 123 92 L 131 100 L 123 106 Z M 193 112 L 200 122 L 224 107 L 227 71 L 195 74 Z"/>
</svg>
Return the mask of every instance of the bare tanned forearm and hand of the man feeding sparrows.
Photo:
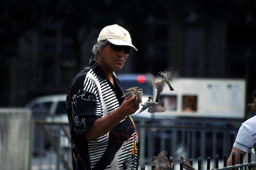
<svg viewBox="0 0 256 170">
<path fill-rule="evenodd" d="M 126 97 L 122 105 L 116 110 L 112 111 L 107 116 L 97 119 L 85 132 L 85 138 L 87 141 L 92 141 L 97 137 L 101 137 L 108 133 L 112 128 L 114 128 L 121 120 L 123 120 L 127 115 L 134 114 L 138 109 L 132 109 L 135 103 L 135 95 L 132 97 Z"/>
</svg>

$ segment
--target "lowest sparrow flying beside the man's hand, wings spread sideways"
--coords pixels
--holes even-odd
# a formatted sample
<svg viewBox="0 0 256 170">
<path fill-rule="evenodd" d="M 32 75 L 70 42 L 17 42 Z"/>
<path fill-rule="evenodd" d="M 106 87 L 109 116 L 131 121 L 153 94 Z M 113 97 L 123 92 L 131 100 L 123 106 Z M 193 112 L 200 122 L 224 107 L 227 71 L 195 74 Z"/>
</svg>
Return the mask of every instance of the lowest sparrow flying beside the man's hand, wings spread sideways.
<svg viewBox="0 0 256 170">
<path fill-rule="evenodd" d="M 142 109 L 140 109 L 139 113 L 146 110 L 148 108 L 149 113 L 155 113 L 155 112 L 165 112 L 166 108 L 153 102 L 153 97 L 148 96 L 148 100 L 142 104 Z"/>
</svg>

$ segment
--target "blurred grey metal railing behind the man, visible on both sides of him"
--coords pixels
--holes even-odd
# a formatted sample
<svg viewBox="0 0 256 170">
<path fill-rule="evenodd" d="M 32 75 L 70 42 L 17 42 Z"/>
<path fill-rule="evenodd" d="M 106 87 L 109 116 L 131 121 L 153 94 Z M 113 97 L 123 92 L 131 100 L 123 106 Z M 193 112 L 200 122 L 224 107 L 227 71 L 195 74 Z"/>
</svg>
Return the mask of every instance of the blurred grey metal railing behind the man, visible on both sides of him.
<svg viewBox="0 0 256 170">
<path fill-rule="evenodd" d="M 239 124 L 231 121 L 146 120 L 135 121 L 140 138 L 140 165 L 166 150 L 179 162 L 178 155 L 196 159 L 230 154 Z M 34 120 L 31 170 L 71 170 L 71 143 L 68 122 Z M 220 157 L 224 159 L 224 157 Z"/>
</svg>

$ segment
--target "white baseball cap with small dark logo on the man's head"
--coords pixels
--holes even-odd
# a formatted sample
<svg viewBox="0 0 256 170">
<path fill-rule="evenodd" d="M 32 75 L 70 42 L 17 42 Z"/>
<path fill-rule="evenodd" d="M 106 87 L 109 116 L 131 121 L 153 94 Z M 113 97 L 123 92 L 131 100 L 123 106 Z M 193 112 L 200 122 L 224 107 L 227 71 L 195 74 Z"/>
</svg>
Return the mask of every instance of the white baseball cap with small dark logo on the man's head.
<svg viewBox="0 0 256 170">
<path fill-rule="evenodd" d="M 97 41 L 99 42 L 103 40 L 108 40 L 114 45 L 130 46 L 135 51 L 138 51 L 131 44 L 131 36 L 129 32 L 123 27 L 118 26 L 117 24 L 107 26 L 101 30 Z"/>
</svg>

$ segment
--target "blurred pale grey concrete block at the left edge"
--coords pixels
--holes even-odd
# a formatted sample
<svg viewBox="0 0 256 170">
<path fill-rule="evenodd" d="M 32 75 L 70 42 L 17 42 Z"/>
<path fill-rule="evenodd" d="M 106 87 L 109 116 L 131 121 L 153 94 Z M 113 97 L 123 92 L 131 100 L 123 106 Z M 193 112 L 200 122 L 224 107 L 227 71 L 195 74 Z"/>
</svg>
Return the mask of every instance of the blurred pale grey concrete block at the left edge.
<svg viewBox="0 0 256 170">
<path fill-rule="evenodd" d="M 30 169 L 31 111 L 0 108 L 0 169 Z"/>
</svg>

